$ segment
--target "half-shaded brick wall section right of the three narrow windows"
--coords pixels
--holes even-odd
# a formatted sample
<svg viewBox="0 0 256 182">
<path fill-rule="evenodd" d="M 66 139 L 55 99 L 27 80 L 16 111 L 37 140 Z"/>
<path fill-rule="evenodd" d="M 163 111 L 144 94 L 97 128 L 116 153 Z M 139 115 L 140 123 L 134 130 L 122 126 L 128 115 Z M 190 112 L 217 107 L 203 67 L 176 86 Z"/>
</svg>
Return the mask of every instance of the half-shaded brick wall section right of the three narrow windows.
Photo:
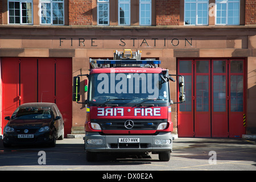
<svg viewBox="0 0 256 182">
<path fill-rule="evenodd" d="M 180 1 L 156 0 L 156 26 L 179 25 Z"/>
</svg>

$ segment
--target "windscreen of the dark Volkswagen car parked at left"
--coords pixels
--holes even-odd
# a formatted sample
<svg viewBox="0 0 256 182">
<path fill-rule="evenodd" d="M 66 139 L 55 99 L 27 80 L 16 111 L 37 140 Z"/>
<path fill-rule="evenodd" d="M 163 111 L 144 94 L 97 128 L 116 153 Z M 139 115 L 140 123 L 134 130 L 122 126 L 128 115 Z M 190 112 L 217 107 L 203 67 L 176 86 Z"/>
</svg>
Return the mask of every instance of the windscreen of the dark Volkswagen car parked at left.
<svg viewBox="0 0 256 182">
<path fill-rule="evenodd" d="M 52 118 L 51 107 L 27 106 L 18 107 L 12 119 L 49 119 Z"/>
</svg>

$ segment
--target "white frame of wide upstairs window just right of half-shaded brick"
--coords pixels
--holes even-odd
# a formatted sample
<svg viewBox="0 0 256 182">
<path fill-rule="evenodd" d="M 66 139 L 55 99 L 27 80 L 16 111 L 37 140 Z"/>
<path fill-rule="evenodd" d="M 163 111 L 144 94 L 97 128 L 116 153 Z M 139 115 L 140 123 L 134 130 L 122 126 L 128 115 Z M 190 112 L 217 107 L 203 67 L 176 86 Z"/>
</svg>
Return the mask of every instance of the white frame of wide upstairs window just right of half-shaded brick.
<svg viewBox="0 0 256 182">
<path fill-rule="evenodd" d="M 196 5 L 196 21 L 195 21 L 195 24 L 185 24 L 185 18 L 186 18 L 186 16 L 185 16 L 185 14 L 186 14 L 186 10 L 185 10 L 185 5 L 186 5 L 186 3 L 195 3 L 195 5 Z M 207 23 L 198 23 L 198 5 L 199 4 L 207 4 Z M 184 0 L 184 26 L 209 26 L 209 0 L 207 0 L 207 1 L 200 1 L 200 0 L 195 0 L 195 2 L 186 2 L 185 0 Z"/>
</svg>

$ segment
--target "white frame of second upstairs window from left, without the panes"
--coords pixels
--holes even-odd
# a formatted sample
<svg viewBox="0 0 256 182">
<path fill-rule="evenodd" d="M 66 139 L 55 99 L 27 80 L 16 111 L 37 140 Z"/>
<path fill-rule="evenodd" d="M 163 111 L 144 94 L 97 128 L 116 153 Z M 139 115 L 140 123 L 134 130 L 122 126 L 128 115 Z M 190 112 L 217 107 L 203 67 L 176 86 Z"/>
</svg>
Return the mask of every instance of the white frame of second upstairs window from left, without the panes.
<svg viewBox="0 0 256 182">
<path fill-rule="evenodd" d="M 52 26 L 63 26 L 65 24 L 65 0 L 58 1 L 58 0 L 39 0 L 40 6 L 40 15 L 39 15 L 39 22 L 40 25 L 52 25 Z M 63 24 L 53 24 L 53 3 L 63 3 Z M 42 3 L 50 3 L 51 5 L 51 23 L 42 23 Z M 58 10 L 59 11 L 59 10 Z M 61 16 L 57 16 L 58 18 Z"/>
</svg>

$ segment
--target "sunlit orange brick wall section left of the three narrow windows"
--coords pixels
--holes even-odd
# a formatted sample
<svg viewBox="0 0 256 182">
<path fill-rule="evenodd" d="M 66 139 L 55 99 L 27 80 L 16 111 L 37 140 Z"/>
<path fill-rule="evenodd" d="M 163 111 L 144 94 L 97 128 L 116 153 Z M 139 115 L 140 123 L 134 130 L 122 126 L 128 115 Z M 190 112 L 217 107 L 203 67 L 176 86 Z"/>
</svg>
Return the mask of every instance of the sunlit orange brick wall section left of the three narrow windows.
<svg viewBox="0 0 256 182">
<path fill-rule="evenodd" d="M 69 0 L 69 25 L 92 25 L 92 0 Z"/>
</svg>

